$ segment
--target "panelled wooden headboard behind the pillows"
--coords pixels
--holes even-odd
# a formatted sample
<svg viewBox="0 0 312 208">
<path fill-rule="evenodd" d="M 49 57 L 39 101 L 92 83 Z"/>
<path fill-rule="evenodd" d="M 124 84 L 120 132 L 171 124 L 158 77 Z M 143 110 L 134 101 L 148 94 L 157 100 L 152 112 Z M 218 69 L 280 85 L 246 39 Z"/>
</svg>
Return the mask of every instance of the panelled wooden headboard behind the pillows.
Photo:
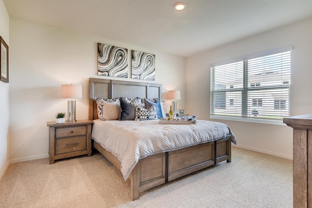
<svg viewBox="0 0 312 208">
<path fill-rule="evenodd" d="M 98 119 L 97 103 L 94 97 L 118 98 L 118 97 L 145 97 L 161 100 L 161 84 L 120 81 L 112 79 L 89 78 L 89 119 Z"/>
</svg>

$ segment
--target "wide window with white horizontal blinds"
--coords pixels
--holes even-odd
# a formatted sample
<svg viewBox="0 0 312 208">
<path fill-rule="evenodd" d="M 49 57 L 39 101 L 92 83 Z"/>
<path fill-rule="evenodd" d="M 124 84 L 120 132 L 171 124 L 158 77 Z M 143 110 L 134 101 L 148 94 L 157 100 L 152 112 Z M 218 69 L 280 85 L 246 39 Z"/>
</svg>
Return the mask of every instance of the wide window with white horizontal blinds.
<svg viewBox="0 0 312 208">
<path fill-rule="evenodd" d="M 211 117 L 282 121 L 290 86 L 291 51 L 211 67 Z"/>
</svg>

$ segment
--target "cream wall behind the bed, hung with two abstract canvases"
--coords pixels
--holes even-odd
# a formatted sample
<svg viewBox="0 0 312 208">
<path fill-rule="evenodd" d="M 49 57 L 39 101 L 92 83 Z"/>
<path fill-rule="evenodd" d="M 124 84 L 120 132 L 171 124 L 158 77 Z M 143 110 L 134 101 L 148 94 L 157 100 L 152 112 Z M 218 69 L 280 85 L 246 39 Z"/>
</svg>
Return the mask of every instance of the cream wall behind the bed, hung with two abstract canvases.
<svg viewBox="0 0 312 208">
<path fill-rule="evenodd" d="M 162 84 L 163 92 L 185 92 L 182 57 L 14 17 L 10 18 L 10 40 L 11 162 L 48 156 L 46 122 L 55 120 L 57 112 L 67 112 L 67 99 L 60 98 L 61 84 L 82 84 L 76 118 L 88 118 L 89 77 L 109 78 L 97 76 L 98 42 L 155 54 L 155 82 Z M 180 105 L 184 107 L 183 100 Z"/>
</svg>

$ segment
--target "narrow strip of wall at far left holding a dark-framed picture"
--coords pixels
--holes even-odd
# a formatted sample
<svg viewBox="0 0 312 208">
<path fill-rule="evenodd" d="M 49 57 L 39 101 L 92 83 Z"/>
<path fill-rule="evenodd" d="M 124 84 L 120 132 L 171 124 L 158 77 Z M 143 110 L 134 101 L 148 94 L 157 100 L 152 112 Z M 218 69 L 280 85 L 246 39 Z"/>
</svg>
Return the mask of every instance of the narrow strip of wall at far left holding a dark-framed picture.
<svg viewBox="0 0 312 208">
<path fill-rule="evenodd" d="M 0 0 L 0 36 L 9 46 L 9 15 Z M 10 58 L 10 56 L 9 56 Z M 10 67 L 10 65 L 9 65 Z M 10 74 L 9 74 L 10 82 Z M 8 141 L 9 141 L 9 83 L 0 81 L 0 180 L 9 165 Z"/>
</svg>

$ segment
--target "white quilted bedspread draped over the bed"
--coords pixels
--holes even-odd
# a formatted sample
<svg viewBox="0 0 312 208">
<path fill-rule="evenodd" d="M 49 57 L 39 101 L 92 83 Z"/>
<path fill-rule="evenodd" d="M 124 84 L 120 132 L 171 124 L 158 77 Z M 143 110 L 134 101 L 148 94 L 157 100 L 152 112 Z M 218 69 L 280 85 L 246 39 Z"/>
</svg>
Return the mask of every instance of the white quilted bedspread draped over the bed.
<svg viewBox="0 0 312 208">
<path fill-rule="evenodd" d="M 94 120 L 92 139 L 121 161 L 125 180 L 139 159 L 164 151 L 172 151 L 195 144 L 220 139 L 232 134 L 226 124 L 196 120 L 194 125 L 164 125 L 158 120 L 101 121 Z"/>
</svg>

